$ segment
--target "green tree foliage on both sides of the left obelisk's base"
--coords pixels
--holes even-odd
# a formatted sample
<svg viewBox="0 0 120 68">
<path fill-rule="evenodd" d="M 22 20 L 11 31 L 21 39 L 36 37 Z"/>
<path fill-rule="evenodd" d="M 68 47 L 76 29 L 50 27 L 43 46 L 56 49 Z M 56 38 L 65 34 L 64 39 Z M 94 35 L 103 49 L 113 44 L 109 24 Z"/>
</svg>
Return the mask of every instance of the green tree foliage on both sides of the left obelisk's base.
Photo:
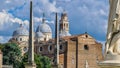
<svg viewBox="0 0 120 68">
<path fill-rule="evenodd" d="M 3 52 L 3 64 L 13 65 L 14 68 L 25 68 L 28 63 L 28 54 L 21 56 L 21 50 L 15 43 L 0 44 Z M 50 59 L 46 56 L 34 54 L 37 68 L 51 68 Z"/>
</svg>

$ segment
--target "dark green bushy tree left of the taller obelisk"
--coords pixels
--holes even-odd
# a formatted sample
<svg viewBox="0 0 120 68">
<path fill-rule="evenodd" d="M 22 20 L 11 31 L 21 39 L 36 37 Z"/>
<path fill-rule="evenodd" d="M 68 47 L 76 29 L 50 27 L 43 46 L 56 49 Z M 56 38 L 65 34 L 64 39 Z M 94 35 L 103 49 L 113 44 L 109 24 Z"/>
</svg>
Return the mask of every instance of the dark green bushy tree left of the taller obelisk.
<svg viewBox="0 0 120 68">
<path fill-rule="evenodd" d="M 2 45 L 3 64 L 13 65 L 14 68 L 19 68 L 21 65 L 21 50 L 15 43 L 6 43 Z"/>
</svg>

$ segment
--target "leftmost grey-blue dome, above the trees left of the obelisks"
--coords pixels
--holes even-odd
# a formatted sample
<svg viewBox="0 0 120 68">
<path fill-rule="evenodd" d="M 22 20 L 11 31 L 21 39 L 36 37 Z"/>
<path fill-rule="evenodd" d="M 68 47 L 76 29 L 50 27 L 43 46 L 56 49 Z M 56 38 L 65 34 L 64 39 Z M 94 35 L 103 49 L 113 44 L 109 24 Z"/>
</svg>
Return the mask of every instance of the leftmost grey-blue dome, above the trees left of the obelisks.
<svg viewBox="0 0 120 68">
<path fill-rule="evenodd" d="M 19 35 L 28 36 L 29 32 L 22 25 L 20 25 L 20 27 L 13 32 L 13 36 L 19 36 Z"/>
</svg>

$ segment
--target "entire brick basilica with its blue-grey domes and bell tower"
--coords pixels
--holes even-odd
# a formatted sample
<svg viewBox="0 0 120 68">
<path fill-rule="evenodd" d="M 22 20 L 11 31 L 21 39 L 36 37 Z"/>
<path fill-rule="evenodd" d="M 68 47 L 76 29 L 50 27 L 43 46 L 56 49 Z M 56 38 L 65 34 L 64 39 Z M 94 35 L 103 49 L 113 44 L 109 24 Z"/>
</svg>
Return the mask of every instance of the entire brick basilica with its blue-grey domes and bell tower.
<svg viewBox="0 0 120 68">
<path fill-rule="evenodd" d="M 66 12 L 61 14 L 59 21 L 59 63 L 61 68 L 99 68 L 97 62 L 103 59 L 102 44 L 98 43 L 88 33 L 71 35 L 69 20 Z M 21 48 L 22 55 L 28 51 L 29 31 L 20 25 L 9 42 L 16 42 Z M 37 54 L 48 56 L 54 65 L 55 39 L 52 38 L 52 29 L 45 22 L 34 32 L 34 51 Z"/>
</svg>

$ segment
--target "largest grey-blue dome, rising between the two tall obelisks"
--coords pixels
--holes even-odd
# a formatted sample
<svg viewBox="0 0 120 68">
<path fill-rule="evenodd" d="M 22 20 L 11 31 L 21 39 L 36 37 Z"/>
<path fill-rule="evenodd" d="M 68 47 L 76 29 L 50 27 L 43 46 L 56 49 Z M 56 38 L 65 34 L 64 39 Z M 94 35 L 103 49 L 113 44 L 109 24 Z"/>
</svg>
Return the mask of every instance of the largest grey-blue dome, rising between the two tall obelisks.
<svg viewBox="0 0 120 68">
<path fill-rule="evenodd" d="M 39 32 L 39 31 L 41 31 L 42 33 L 52 33 L 50 26 L 46 23 L 42 23 L 37 27 L 36 32 Z"/>
</svg>

